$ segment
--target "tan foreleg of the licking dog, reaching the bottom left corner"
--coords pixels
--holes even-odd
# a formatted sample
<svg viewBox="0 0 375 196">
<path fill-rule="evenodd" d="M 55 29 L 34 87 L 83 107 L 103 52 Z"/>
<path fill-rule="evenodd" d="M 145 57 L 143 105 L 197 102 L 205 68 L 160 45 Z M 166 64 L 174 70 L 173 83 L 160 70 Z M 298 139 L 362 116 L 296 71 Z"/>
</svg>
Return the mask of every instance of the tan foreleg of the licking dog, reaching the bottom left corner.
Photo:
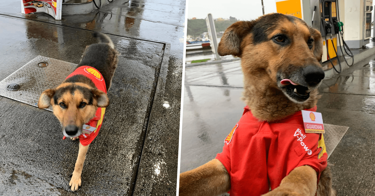
<svg viewBox="0 0 375 196">
<path fill-rule="evenodd" d="M 229 174 L 223 164 L 213 159 L 210 162 L 180 174 L 179 196 L 216 196 L 228 192 Z"/>
</svg>

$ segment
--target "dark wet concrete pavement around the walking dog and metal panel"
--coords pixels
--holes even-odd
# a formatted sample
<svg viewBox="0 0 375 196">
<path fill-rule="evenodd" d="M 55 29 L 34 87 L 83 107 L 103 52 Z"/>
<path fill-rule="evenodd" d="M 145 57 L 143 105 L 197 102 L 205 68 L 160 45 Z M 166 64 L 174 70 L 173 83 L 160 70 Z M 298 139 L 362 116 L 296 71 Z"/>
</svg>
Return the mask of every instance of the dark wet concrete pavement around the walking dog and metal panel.
<svg viewBox="0 0 375 196">
<path fill-rule="evenodd" d="M 0 97 L 0 195 L 175 195 L 185 2 L 115 0 L 61 21 L 6 2 L 0 80 L 37 55 L 78 63 L 97 43 L 92 31 L 109 34 L 121 55 L 77 193 L 68 183 L 78 141 L 62 140 L 51 112 Z"/>
</svg>

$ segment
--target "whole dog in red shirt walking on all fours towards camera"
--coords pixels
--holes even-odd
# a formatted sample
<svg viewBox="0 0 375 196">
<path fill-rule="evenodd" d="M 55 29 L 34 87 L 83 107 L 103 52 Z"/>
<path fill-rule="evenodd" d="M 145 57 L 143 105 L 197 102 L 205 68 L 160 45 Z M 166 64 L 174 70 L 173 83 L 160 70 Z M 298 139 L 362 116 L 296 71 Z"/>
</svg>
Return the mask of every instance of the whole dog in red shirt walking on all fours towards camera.
<svg viewBox="0 0 375 196">
<path fill-rule="evenodd" d="M 69 182 L 73 192 L 81 186 L 81 173 L 90 143 L 98 135 L 109 105 L 107 91 L 117 68 L 118 52 L 110 37 L 94 32 L 99 40 L 86 46 L 81 61 L 65 81 L 56 88 L 42 92 L 38 108 L 52 105 L 53 114 L 60 121 L 66 137 L 80 139 L 78 158 Z"/>
</svg>

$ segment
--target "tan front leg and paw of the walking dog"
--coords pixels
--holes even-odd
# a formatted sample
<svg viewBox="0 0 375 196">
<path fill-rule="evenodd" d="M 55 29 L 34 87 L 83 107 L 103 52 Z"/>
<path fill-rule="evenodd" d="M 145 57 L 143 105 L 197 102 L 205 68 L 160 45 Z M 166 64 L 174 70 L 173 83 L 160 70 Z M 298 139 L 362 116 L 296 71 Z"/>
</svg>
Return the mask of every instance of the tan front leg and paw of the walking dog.
<svg viewBox="0 0 375 196">
<path fill-rule="evenodd" d="M 83 163 L 85 162 L 86 153 L 87 149 L 89 149 L 89 145 L 84 146 L 80 142 L 80 149 L 78 150 L 77 162 L 75 162 L 73 176 L 71 181 L 69 182 L 69 186 L 71 186 L 71 190 L 73 192 L 77 191 L 78 187 L 81 186 L 81 174 L 83 169 Z"/>
</svg>

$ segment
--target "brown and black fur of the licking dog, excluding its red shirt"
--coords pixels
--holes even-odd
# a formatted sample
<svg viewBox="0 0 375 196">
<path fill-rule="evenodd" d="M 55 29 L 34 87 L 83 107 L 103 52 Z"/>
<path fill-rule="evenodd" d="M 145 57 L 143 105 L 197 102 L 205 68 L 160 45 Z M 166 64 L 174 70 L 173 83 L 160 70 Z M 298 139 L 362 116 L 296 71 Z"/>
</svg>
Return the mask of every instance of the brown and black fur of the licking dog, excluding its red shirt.
<svg viewBox="0 0 375 196">
<path fill-rule="evenodd" d="M 317 88 L 324 78 L 319 63 L 322 49 L 319 31 L 297 17 L 272 13 L 232 24 L 225 30 L 217 51 L 241 57 L 243 99 L 255 118 L 272 123 L 316 106 Z M 317 171 L 303 165 L 282 177 L 279 186 L 264 196 L 333 196 L 331 185 L 329 168 L 321 172 L 317 184 Z M 231 176 L 218 159 L 180 174 L 180 196 L 215 196 L 231 187 Z"/>
</svg>

